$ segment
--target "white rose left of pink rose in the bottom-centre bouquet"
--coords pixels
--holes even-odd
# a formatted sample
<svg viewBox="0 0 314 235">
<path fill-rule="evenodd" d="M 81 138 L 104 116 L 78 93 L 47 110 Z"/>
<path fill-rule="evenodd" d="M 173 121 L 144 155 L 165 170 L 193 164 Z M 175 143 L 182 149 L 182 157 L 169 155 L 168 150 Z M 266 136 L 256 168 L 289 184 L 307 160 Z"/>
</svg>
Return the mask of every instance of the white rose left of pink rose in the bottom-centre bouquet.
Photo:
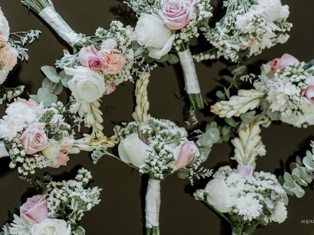
<svg viewBox="0 0 314 235">
<path fill-rule="evenodd" d="M 123 162 L 139 167 L 145 163 L 147 149 L 148 145 L 138 138 L 138 134 L 132 133 L 121 140 L 118 153 Z"/>
</svg>

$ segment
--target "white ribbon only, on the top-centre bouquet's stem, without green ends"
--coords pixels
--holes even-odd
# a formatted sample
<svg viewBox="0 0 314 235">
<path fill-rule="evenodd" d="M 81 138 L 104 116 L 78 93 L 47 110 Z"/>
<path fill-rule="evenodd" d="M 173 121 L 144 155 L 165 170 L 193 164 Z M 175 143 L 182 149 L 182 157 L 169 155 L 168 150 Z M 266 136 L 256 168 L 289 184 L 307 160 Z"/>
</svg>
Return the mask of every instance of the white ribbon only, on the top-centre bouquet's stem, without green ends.
<svg viewBox="0 0 314 235">
<path fill-rule="evenodd" d="M 180 64 L 183 69 L 185 91 L 187 94 L 200 94 L 195 64 L 190 49 L 178 52 Z"/>
</svg>

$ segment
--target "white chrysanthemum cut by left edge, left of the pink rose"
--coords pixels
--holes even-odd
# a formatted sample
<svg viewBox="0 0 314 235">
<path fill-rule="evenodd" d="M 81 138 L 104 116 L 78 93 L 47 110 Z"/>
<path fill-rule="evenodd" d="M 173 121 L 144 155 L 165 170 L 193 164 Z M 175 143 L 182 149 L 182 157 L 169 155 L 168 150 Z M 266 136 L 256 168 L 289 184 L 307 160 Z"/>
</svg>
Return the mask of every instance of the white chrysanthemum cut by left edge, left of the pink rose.
<svg viewBox="0 0 314 235">
<path fill-rule="evenodd" d="M 25 127 L 26 125 L 19 118 L 3 116 L 0 120 L 0 138 L 12 141 L 18 132 L 22 131 Z"/>
</svg>

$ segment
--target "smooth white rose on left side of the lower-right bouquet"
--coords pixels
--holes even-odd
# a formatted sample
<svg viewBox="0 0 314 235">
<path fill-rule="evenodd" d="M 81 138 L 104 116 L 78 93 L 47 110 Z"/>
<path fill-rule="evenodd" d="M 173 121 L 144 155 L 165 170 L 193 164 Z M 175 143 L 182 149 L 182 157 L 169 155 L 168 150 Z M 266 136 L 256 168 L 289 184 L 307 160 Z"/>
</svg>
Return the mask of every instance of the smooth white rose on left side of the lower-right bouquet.
<svg viewBox="0 0 314 235">
<path fill-rule="evenodd" d="M 232 211 L 232 192 L 222 178 L 215 178 L 209 181 L 207 191 L 207 202 L 217 211 L 227 213 Z"/>
</svg>

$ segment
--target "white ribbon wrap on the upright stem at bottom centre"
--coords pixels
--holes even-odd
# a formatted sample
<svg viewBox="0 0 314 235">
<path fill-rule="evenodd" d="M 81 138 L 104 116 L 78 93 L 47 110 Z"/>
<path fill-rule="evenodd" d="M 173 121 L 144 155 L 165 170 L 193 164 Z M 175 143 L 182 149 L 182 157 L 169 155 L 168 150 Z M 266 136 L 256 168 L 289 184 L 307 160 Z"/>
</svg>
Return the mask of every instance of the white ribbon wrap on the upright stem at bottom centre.
<svg viewBox="0 0 314 235">
<path fill-rule="evenodd" d="M 159 226 L 160 180 L 148 180 L 145 199 L 146 228 Z"/>
</svg>

